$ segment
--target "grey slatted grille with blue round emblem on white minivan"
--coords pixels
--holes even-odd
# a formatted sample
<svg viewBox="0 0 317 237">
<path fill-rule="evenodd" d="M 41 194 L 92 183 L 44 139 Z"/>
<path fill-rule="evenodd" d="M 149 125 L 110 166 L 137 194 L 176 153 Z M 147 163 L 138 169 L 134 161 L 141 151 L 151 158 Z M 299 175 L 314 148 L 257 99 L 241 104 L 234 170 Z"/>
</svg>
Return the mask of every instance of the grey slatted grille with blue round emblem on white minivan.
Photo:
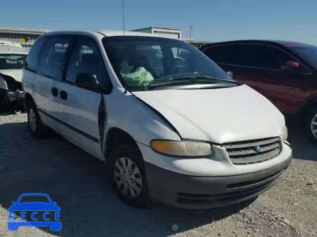
<svg viewBox="0 0 317 237">
<path fill-rule="evenodd" d="M 251 164 L 276 157 L 281 151 L 279 137 L 223 144 L 231 162 Z M 257 149 L 258 148 L 258 149 Z"/>
</svg>

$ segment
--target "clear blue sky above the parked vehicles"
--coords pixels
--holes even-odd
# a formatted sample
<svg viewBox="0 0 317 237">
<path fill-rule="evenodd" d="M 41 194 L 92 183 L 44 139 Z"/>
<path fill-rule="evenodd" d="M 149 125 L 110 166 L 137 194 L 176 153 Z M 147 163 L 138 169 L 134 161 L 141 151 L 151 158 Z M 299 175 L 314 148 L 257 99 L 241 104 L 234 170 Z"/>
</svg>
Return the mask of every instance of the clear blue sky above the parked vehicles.
<svg viewBox="0 0 317 237">
<path fill-rule="evenodd" d="M 124 0 L 126 30 L 163 27 L 195 40 L 317 45 L 317 0 Z M 122 30 L 122 0 L 2 0 L 0 27 Z"/>
</svg>

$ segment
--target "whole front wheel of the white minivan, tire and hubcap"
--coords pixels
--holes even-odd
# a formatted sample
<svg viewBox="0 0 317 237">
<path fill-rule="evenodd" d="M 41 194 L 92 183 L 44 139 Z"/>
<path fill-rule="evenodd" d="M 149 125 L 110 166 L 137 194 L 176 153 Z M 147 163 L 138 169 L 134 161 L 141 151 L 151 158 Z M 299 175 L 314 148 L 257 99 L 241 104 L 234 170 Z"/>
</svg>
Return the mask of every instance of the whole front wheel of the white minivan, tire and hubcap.
<svg viewBox="0 0 317 237">
<path fill-rule="evenodd" d="M 125 144 L 111 149 L 109 174 L 112 188 L 128 205 L 149 206 L 144 160 L 136 145 Z"/>
</svg>

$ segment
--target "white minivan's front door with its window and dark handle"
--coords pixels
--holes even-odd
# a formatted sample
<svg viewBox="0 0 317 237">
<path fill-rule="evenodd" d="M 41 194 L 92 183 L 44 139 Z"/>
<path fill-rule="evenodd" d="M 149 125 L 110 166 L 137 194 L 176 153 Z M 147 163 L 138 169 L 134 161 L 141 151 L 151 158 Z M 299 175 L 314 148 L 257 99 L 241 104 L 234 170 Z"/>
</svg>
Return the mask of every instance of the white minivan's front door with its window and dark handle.
<svg viewBox="0 0 317 237">
<path fill-rule="evenodd" d="M 101 92 L 76 86 L 79 73 L 94 74 L 103 83 L 106 67 L 98 44 L 80 36 L 70 54 L 62 81 L 54 81 L 58 94 L 61 134 L 92 155 L 103 159 L 102 140 L 105 126 L 105 103 Z"/>
</svg>

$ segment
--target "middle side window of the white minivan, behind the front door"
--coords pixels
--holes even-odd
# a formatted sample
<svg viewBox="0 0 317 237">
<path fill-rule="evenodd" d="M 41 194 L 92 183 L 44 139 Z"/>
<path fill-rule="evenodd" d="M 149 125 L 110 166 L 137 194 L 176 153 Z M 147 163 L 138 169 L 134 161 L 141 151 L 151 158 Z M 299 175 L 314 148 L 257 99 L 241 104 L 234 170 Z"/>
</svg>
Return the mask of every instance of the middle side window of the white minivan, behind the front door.
<svg viewBox="0 0 317 237">
<path fill-rule="evenodd" d="M 40 74 L 57 80 L 61 79 L 66 50 L 71 41 L 72 38 L 67 36 L 48 38 L 40 56 Z"/>
</svg>

